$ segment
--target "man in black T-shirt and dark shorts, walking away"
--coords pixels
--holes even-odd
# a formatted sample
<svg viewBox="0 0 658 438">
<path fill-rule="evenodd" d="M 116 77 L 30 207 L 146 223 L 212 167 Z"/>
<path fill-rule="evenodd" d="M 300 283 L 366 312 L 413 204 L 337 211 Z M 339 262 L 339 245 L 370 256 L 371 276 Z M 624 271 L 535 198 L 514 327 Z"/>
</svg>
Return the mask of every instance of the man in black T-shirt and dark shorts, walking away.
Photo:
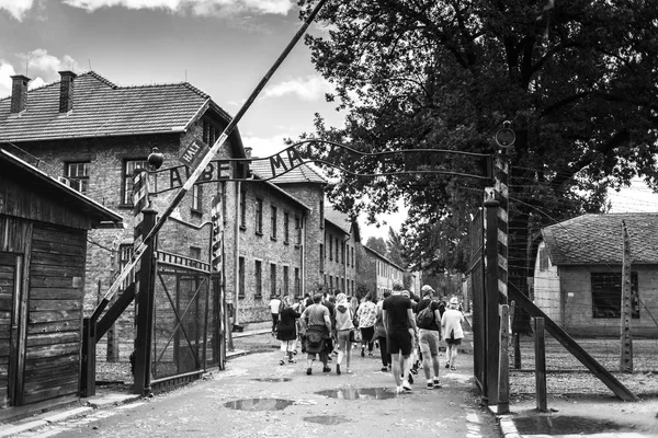
<svg viewBox="0 0 658 438">
<path fill-rule="evenodd" d="M 402 296 L 401 284 L 396 283 L 393 286 L 393 293 L 384 300 L 382 312 L 386 330 L 386 347 L 388 348 L 388 353 L 390 353 L 396 391 L 398 394 L 411 391 L 411 384 L 407 380 L 407 376 L 409 376 L 409 355 L 411 354 L 411 333 L 409 333 L 409 327 L 412 327 L 413 331 L 417 328 L 413 310 L 411 309 L 411 300 Z"/>
</svg>

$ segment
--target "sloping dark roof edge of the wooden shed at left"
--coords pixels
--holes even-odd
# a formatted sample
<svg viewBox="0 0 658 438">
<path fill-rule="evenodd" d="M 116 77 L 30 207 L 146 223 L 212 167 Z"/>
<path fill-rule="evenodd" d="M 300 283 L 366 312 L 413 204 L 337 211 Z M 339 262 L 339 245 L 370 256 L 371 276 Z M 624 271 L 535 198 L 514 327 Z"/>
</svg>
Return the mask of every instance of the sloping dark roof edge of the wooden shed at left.
<svg viewBox="0 0 658 438">
<path fill-rule="evenodd" d="M 59 204 L 89 215 L 94 228 L 123 227 L 121 215 L 103 207 L 80 192 L 52 178 L 43 171 L 0 149 L 0 174 L 14 175 L 25 188 L 52 196 Z"/>
</svg>

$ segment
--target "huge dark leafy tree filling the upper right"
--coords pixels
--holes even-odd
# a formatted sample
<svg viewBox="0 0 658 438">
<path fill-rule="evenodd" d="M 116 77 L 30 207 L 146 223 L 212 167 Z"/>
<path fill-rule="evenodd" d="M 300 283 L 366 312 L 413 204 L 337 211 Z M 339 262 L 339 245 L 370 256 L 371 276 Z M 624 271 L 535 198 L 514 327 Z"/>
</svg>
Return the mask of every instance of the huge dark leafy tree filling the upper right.
<svg viewBox="0 0 658 438">
<path fill-rule="evenodd" d="M 311 3 L 299 0 L 303 16 Z M 353 0 L 328 2 L 317 20 L 325 32 L 306 44 L 336 85 L 328 100 L 348 116 L 342 128 L 317 116 L 311 137 L 367 152 L 494 153 L 495 132 L 511 122 L 510 287 L 526 288 L 533 217 L 603 211 L 608 188 L 636 175 L 658 188 L 658 2 Z M 353 172 L 328 169 L 339 177 L 328 193 L 338 208 L 374 220 L 402 197 L 413 262 L 458 258 L 467 221 L 457 218 L 481 206 L 483 183 L 331 153 Z M 479 165 L 445 160 L 465 173 Z M 451 215 L 458 232 L 442 222 Z"/>
</svg>

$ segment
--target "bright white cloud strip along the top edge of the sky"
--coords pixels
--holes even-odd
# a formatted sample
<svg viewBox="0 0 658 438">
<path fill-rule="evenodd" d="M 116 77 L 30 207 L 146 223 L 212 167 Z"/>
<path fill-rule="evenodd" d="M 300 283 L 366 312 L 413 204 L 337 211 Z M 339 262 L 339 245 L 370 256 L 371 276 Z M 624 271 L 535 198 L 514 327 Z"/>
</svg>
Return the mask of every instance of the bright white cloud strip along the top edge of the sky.
<svg viewBox="0 0 658 438">
<path fill-rule="evenodd" d="M 195 15 L 229 15 L 239 12 L 286 15 L 294 5 L 291 0 L 64 0 L 64 2 L 88 12 L 121 7 L 162 9 L 174 13 L 192 12 Z"/>
</svg>

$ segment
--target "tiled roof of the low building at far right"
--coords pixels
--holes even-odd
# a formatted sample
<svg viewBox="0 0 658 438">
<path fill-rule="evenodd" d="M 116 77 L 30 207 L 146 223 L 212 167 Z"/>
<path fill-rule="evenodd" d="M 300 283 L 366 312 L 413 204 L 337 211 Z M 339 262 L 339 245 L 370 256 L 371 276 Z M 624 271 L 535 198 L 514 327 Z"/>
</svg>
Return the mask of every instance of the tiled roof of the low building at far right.
<svg viewBox="0 0 658 438">
<path fill-rule="evenodd" d="M 658 214 L 583 215 L 546 227 L 542 237 L 554 265 L 621 264 L 622 221 L 626 223 L 631 264 L 658 264 Z"/>
</svg>

